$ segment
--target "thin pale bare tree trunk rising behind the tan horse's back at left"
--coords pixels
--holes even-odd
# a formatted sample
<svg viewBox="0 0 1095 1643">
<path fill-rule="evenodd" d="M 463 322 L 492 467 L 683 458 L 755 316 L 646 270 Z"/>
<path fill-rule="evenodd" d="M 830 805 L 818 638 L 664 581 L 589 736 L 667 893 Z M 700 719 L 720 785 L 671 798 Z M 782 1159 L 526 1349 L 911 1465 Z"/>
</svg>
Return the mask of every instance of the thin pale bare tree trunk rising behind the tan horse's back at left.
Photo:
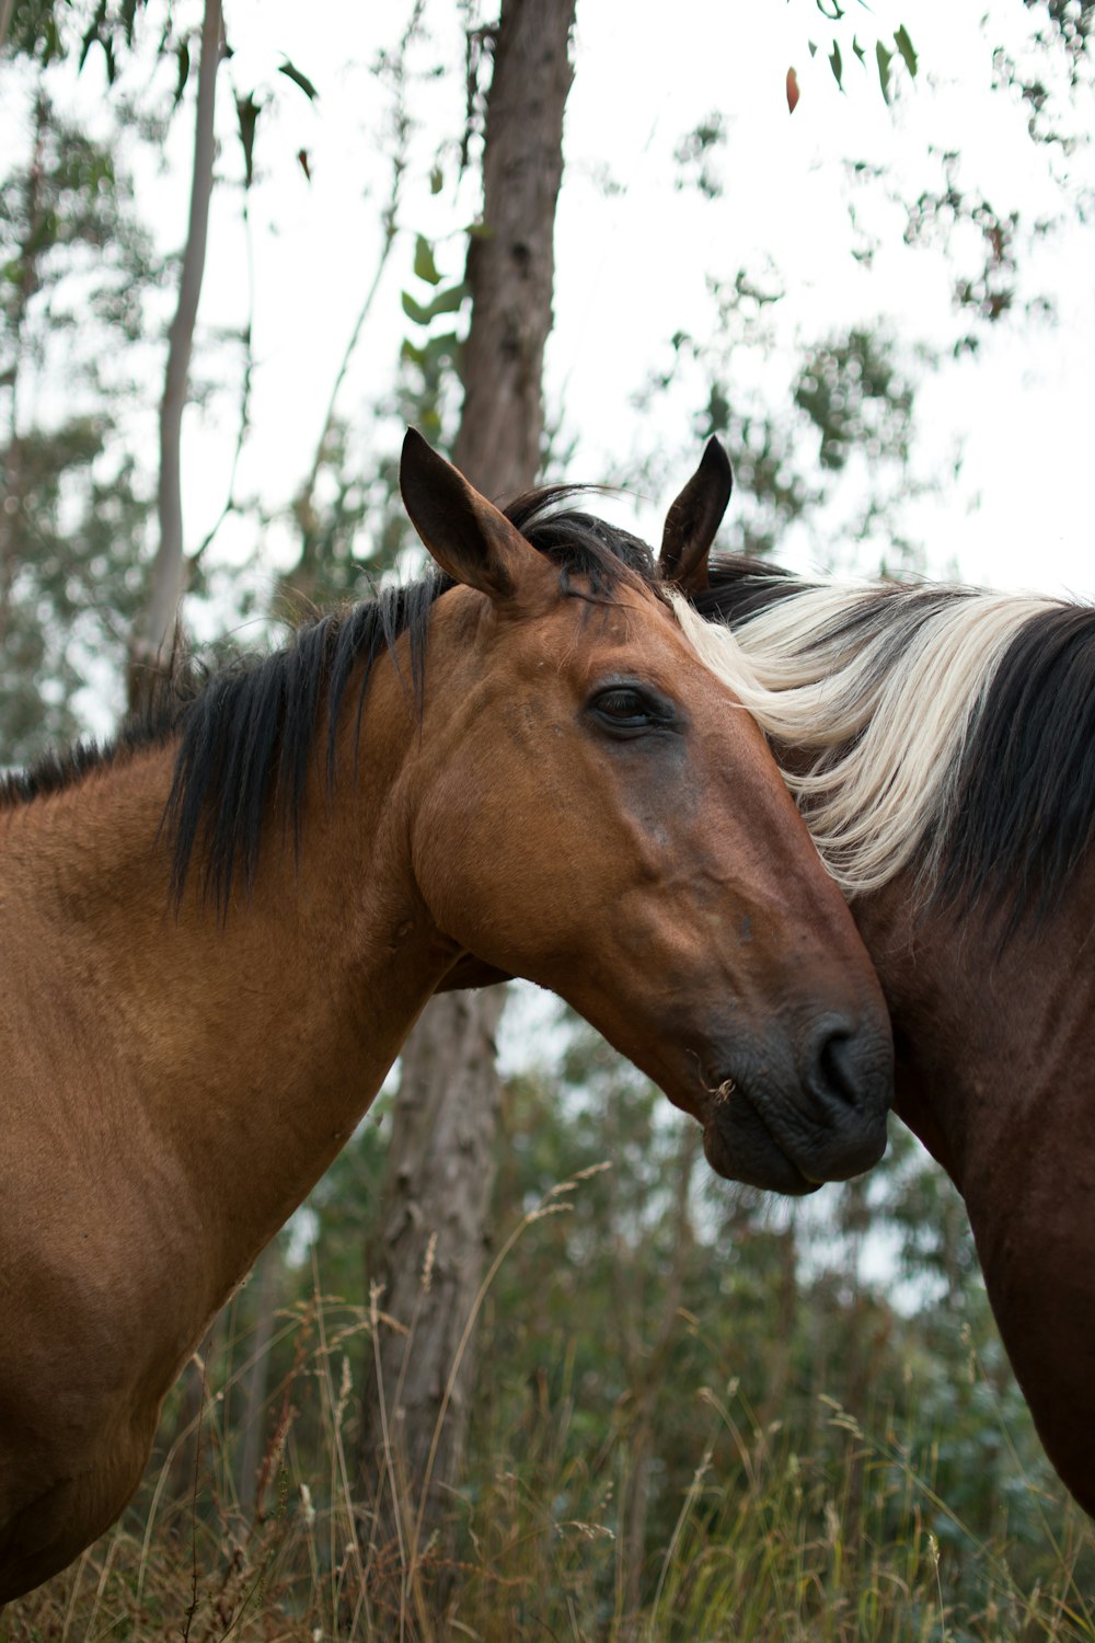
<svg viewBox="0 0 1095 1643">
<path fill-rule="evenodd" d="M 159 547 L 153 560 L 148 603 L 135 626 L 130 646 L 130 708 L 148 700 L 158 679 L 171 667 L 179 601 L 186 588 L 182 412 L 187 403 L 194 325 L 205 274 L 208 202 L 213 192 L 217 69 L 223 56 L 223 44 L 222 3 L 220 0 L 205 0 L 202 61 L 197 74 L 190 222 L 179 278 L 179 307 L 167 335 L 167 371 L 164 398 L 159 406 Z"/>
</svg>

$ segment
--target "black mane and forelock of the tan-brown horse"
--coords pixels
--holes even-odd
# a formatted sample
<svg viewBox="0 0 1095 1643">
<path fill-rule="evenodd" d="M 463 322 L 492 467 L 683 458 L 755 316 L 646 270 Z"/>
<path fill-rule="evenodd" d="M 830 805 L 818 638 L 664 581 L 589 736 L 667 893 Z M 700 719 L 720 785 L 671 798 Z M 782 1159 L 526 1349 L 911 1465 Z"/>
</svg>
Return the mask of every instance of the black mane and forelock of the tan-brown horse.
<svg viewBox="0 0 1095 1643">
<path fill-rule="evenodd" d="M 565 595 L 611 601 L 616 588 L 640 580 L 662 596 L 650 549 L 627 531 L 561 504 L 576 485 L 527 491 L 504 511 L 525 539 L 560 570 Z M 268 656 L 240 656 L 200 677 L 179 677 L 107 746 L 80 743 L 0 780 L 0 807 L 28 803 L 80 782 L 144 748 L 179 741 L 164 823 L 172 841 L 172 887 L 182 894 L 194 849 L 207 848 L 205 891 L 227 910 L 236 871 L 251 884 L 271 810 L 299 843 L 300 808 L 327 718 L 327 775 L 335 779 L 340 713 L 351 674 L 358 725 L 373 665 L 396 659 L 407 634 L 409 688 L 422 706 L 430 613 L 455 583 L 438 570 L 297 628 Z M 325 715 L 320 708 L 325 708 Z"/>
</svg>

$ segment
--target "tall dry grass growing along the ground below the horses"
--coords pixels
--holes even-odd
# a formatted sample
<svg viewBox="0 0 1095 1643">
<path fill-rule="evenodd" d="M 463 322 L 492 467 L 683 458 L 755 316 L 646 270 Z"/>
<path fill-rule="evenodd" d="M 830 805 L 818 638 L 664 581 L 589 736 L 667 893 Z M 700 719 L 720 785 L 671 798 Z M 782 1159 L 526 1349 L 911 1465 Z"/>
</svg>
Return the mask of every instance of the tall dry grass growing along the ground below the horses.
<svg viewBox="0 0 1095 1643">
<path fill-rule="evenodd" d="M 517 1240 L 566 1213 L 580 1188 L 578 1178 L 565 1183 L 517 1222 L 468 1329 Z M 238 1434 L 227 1418 L 251 1346 L 246 1329 L 230 1326 L 200 1411 L 179 1429 L 177 1406 L 167 1408 L 171 1441 L 123 1520 L 71 1569 L 11 1604 L 0 1636 L 1095 1643 L 1093 1528 L 1024 1480 L 1018 1456 L 1016 1498 L 1028 1518 L 1033 1502 L 1042 1525 L 1021 1569 L 1006 1512 L 990 1538 L 978 1538 L 941 1497 L 937 1451 L 916 1418 L 877 1410 L 860 1420 L 822 1400 L 824 1443 L 803 1454 L 778 1421 L 754 1418 L 735 1383 L 668 1388 L 698 1400 L 703 1441 L 670 1533 L 647 1548 L 635 1612 L 625 1604 L 634 1582 L 621 1521 L 627 1428 L 576 1439 L 581 1395 L 566 1372 L 555 1397 L 540 1390 L 532 1438 L 507 1428 L 502 1406 L 484 1413 L 474 1475 L 453 1500 L 455 1554 L 422 1543 L 420 1502 L 407 1487 L 392 1418 L 399 1383 L 378 1388 L 389 1416 L 383 1487 L 397 1505 L 394 1539 L 378 1543 L 378 1502 L 355 1492 L 356 1403 L 363 1375 L 374 1374 L 366 1365 L 378 1331 L 401 1329 L 409 1360 L 414 1326 L 414 1318 L 387 1319 L 378 1295 L 353 1308 L 323 1293 L 314 1255 L 310 1296 L 276 1321 L 274 1347 L 289 1367 L 266 1406 L 254 1508 L 240 1502 Z M 447 1403 L 448 1392 L 438 1429 Z M 1006 1431 L 1000 1441 L 1010 1441 Z M 181 1452 L 195 1456 L 182 1490 Z"/>
</svg>

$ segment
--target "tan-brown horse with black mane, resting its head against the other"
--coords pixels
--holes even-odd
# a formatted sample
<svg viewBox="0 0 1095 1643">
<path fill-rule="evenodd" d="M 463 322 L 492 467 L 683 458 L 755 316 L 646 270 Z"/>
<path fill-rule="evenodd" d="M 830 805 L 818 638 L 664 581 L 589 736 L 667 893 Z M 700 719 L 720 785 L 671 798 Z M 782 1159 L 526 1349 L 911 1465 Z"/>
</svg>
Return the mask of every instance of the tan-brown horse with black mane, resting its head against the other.
<svg viewBox="0 0 1095 1643">
<path fill-rule="evenodd" d="M 121 1510 L 461 955 L 563 994 L 726 1175 L 804 1191 L 885 1145 L 864 946 L 640 545 L 522 532 L 417 435 L 402 488 L 445 575 L 8 784 L 0 1602 Z"/>
</svg>

